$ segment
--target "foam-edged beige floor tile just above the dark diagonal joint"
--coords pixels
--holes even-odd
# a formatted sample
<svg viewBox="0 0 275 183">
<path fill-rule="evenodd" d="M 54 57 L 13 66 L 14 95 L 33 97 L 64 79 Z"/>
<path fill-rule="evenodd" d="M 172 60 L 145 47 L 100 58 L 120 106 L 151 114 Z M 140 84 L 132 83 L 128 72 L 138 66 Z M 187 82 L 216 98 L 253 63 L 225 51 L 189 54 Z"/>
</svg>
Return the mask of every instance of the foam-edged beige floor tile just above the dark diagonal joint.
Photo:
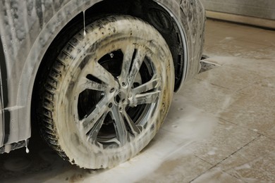
<svg viewBox="0 0 275 183">
<path fill-rule="evenodd" d="M 256 132 L 220 120 L 211 137 L 194 144 L 195 156 L 216 165 L 257 137 Z"/>
</svg>

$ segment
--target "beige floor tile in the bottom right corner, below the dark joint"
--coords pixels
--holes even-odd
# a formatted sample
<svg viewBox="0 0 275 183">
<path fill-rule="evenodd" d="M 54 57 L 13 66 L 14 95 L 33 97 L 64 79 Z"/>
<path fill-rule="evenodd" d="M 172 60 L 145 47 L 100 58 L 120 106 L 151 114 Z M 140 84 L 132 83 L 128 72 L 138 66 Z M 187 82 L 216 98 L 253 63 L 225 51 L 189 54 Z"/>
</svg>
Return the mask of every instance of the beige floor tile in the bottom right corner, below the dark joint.
<svg viewBox="0 0 275 183">
<path fill-rule="evenodd" d="M 221 164 L 223 170 L 245 182 L 275 182 L 275 141 L 260 137 Z"/>
</svg>

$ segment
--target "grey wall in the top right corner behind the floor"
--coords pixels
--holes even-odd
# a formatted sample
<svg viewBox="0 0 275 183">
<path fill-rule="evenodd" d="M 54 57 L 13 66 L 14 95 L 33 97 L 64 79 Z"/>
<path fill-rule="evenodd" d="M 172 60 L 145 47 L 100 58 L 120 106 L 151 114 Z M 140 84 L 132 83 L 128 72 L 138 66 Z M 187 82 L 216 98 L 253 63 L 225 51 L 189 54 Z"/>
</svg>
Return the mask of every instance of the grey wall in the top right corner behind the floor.
<svg viewBox="0 0 275 183">
<path fill-rule="evenodd" d="M 201 0 L 208 11 L 275 20 L 274 0 Z"/>
</svg>

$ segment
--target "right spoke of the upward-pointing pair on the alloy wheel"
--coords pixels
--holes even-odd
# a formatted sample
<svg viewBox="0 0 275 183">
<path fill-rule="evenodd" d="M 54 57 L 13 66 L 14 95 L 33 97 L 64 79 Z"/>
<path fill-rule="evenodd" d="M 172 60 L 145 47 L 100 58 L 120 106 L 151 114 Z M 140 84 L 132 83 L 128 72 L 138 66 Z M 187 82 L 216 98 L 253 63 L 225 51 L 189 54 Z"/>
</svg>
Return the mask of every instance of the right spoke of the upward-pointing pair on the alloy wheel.
<svg viewBox="0 0 275 183">
<path fill-rule="evenodd" d="M 145 59 L 146 51 L 142 48 L 138 49 L 135 58 L 133 60 L 133 65 L 130 70 L 130 73 L 128 75 L 128 84 L 129 87 L 133 86 L 133 83 L 135 81 L 135 77 L 137 76 L 138 72 L 140 71 L 140 67 Z"/>
</svg>

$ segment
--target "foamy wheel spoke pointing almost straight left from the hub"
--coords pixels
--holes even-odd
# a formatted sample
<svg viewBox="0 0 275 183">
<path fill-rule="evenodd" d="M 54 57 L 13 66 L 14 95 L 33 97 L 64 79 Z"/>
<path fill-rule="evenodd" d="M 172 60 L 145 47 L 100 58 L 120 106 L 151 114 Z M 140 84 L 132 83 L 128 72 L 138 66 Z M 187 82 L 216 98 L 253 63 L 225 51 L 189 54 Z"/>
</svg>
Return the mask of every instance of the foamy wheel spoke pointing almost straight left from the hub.
<svg viewBox="0 0 275 183">
<path fill-rule="evenodd" d="M 97 91 L 106 91 L 107 87 L 105 84 L 99 84 L 97 82 L 94 82 L 92 80 L 87 79 L 87 77 L 82 77 L 79 81 L 79 93 L 83 92 L 85 89 L 93 89 Z"/>
</svg>

